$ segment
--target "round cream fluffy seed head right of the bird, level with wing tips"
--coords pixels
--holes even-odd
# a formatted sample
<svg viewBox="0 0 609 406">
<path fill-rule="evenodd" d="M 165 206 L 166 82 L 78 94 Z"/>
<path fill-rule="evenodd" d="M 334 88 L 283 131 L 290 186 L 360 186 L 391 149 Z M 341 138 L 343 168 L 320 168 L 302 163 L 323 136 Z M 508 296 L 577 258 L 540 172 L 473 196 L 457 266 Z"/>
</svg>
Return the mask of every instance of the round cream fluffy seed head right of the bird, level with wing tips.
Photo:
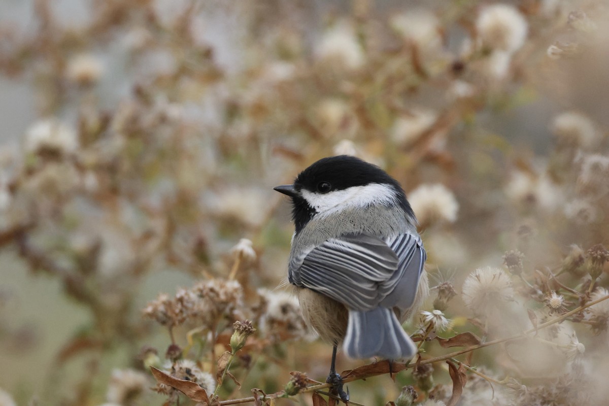
<svg viewBox="0 0 609 406">
<path fill-rule="evenodd" d="M 510 277 L 499 268 L 478 268 L 463 282 L 463 301 L 476 314 L 489 307 L 512 301 L 514 291 Z"/>
</svg>

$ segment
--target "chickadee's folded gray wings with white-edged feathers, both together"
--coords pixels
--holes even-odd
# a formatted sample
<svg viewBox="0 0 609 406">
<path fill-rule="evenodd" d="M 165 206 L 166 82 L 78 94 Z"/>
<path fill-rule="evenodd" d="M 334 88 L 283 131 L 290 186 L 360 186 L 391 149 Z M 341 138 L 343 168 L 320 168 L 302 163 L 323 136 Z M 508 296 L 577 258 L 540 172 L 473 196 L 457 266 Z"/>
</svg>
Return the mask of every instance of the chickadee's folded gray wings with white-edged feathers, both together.
<svg viewBox="0 0 609 406">
<path fill-rule="evenodd" d="M 390 245 L 367 234 L 329 239 L 309 252 L 300 267 L 290 269 L 289 281 L 353 310 L 412 304 L 424 262 L 424 257 L 416 253 L 417 239 L 412 234 L 403 234 Z M 412 289 L 407 289 L 408 283 L 415 284 L 412 298 L 403 297 L 410 296 Z M 396 288 L 407 292 L 398 292 Z"/>
</svg>

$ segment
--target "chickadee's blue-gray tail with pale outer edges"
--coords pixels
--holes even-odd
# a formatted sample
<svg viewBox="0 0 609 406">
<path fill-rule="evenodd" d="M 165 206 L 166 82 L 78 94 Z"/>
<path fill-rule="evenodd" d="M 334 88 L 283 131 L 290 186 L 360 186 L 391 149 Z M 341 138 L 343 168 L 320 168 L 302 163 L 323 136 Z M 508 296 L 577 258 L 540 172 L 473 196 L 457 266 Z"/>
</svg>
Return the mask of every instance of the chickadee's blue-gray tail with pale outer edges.
<svg viewBox="0 0 609 406">
<path fill-rule="evenodd" d="M 343 351 L 354 359 L 382 357 L 410 359 L 417 346 L 410 340 L 391 309 L 377 307 L 369 312 L 349 310 Z"/>
</svg>

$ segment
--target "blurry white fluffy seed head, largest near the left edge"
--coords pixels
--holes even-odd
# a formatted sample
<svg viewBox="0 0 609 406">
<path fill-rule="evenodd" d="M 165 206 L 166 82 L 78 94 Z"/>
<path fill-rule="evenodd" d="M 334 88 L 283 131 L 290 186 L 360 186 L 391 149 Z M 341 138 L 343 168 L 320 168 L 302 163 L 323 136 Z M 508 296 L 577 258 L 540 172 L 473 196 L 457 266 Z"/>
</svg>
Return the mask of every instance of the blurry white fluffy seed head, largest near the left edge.
<svg viewBox="0 0 609 406">
<path fill-rule="evenodd" d="M 24 146 L 30 153 L 65 155 L 76 152 L 79 140 L 71 127 L 56 118 L 49 118 L 37 121 L 27 129 Z"/>
</svg>

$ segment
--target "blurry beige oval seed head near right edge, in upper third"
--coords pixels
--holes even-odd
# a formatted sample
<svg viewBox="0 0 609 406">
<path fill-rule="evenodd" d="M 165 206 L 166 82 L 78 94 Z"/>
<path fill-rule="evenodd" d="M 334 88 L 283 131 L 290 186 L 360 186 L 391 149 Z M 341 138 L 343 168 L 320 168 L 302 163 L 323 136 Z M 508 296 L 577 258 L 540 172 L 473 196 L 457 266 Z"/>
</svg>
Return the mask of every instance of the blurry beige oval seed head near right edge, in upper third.
<svg viewBox="0 0 609 406">
<path fill-rule="evenodd" d="M 588 148 L 598 141 L 593 122 L 577 111 L 565 111 L 555 116 L 551 130 L 562 145 Z"/>
</svg>

